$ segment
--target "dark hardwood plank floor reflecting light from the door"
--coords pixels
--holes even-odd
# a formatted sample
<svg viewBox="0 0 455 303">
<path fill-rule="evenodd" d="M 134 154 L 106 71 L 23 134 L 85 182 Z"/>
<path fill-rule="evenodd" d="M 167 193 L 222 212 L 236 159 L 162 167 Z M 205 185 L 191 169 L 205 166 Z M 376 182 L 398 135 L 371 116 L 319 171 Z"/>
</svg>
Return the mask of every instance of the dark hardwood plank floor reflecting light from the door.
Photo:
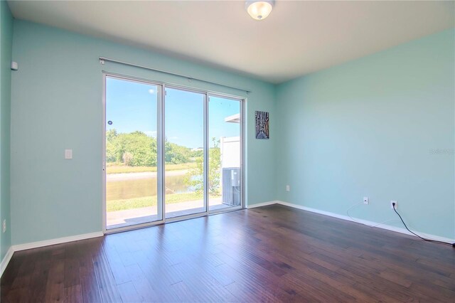
<svg viewBox="0 0 455 303">
<path fill-rule="evenodd" d="M 449 245 L 285 206 L 16 252 L 1 302 L 454 302 Z"/>
</svg>

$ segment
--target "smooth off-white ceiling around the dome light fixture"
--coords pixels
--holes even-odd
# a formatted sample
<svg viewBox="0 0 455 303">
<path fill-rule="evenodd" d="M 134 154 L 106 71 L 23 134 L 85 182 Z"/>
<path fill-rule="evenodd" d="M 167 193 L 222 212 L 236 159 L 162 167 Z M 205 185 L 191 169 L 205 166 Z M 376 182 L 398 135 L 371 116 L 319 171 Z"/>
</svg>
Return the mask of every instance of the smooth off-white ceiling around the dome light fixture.
<svg viewBox="0 0 455 303">
<path fill-rule="evenodd" d="M 455 27 L 454 1 L 9 1 L 15 18 L 281 83 Z"/>
</svg>

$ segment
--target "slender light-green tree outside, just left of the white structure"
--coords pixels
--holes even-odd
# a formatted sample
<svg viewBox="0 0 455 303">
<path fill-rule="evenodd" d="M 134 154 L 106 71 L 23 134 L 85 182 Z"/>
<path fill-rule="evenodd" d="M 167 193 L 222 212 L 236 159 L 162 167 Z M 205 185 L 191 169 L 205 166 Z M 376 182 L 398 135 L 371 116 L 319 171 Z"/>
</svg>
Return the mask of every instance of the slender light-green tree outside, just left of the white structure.
<svg viewBox="0 0 455 303">
<path fill-rule="evenodd" d="M 221 151 L 220 140 L 212 138 L 213 147 L 208 151 L 208 193 L 213 196 L 220 196 L 220 166 L 221 166 Z M 185 176 L 185 183 L 192 186 L 198 193 L 202 193 L 204 189 L 204 157 L 196 158 L 196 167 L 190 169 Z"/>
</svg>

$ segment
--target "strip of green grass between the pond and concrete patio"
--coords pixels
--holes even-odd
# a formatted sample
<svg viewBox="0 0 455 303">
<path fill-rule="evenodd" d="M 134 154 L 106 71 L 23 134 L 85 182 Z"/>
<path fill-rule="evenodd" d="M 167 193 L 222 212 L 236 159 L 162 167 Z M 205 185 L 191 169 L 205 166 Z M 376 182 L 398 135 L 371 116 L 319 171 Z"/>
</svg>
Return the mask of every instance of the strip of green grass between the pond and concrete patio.
<svg viewBox="0 0 455 303">
<path fill-rule="evenodd" d="M 166 196 L 166 203 L 181 203 L 186 201 L 201 200 L 202 198 L 202 193 L 173 193 Z M 210 196 L 210 198 L 216 197 Z M 149 206 L 156 206 L 156 196 L 106 201 L 106 208 L 108 212 Z"/>
</svg>

